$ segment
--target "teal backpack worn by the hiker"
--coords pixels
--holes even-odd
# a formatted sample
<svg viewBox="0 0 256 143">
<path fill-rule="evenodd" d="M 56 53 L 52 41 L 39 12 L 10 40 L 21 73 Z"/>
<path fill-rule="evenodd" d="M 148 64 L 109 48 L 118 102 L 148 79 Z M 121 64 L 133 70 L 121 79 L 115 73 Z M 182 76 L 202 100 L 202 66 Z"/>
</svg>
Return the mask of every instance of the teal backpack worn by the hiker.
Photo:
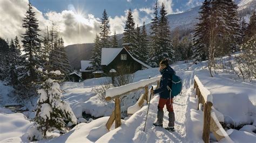
<svg viewBox="0 0 256 143">
<path fill-rule="evenodd" d="M 179 76 L 176 74 L 172 75 L 172 80 L 169 79 L 169 82 L 172 82 L 172 88 L 170 88 L 170 84 L 167 85 L 167 89 L 170 90 L 170 96 L 173 98 L 174 96 L 177 96 L 180 94 L 181 89 L 182 89 L 182 81 Z"/>
</svg>

